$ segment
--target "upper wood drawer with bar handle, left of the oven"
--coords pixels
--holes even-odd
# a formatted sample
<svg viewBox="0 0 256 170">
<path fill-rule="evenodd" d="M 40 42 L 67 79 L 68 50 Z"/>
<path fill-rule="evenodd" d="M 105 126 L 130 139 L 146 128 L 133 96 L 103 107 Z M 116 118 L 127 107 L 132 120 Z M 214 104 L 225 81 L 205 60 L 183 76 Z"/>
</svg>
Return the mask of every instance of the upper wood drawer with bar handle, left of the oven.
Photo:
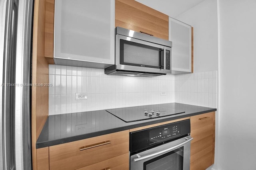
<svg viewBox="0 0 256 170">
<path fill-rule="evenodd" d="M 49 147 L 50 169 L 75 170 L 129 152 L 129 131 Z"/>
</svg>

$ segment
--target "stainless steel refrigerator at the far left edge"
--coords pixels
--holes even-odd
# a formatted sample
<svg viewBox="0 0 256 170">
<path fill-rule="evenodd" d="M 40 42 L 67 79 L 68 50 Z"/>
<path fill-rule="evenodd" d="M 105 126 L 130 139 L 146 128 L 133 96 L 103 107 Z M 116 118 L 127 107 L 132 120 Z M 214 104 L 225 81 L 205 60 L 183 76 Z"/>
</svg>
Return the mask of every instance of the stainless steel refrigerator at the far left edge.
<svg viewBox="0 0 256 170">
<path fill-rule="evenodd" d="M 0 169 L 32 169 L 33 0 L 0 0 Z"/>
</svg>

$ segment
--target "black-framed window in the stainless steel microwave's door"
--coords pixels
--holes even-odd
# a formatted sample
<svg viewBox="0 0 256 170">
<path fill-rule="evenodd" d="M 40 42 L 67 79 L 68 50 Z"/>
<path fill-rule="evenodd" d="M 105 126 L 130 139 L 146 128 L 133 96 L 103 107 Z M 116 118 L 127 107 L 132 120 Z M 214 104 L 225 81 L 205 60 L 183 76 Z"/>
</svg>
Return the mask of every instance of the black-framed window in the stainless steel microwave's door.
<svg viewBox="0 0 256 170">
<path fill-rule="evenodd" d="M 162 49 L 120 39 L 120 64 L 159 68 Z"/>
</svg>

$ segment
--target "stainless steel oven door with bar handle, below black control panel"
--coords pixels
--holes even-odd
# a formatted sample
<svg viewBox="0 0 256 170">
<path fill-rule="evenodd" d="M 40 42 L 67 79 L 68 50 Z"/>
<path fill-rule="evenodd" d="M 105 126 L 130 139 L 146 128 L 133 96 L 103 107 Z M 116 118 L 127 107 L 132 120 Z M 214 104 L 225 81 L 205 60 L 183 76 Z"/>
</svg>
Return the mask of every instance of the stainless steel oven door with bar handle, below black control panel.
<svg viewBox="0 0 256 170">
<path fill-rule="evenodd" d="M 190 136 L 130 156 L 130 170 L 189 170 Z"/>
</svg>

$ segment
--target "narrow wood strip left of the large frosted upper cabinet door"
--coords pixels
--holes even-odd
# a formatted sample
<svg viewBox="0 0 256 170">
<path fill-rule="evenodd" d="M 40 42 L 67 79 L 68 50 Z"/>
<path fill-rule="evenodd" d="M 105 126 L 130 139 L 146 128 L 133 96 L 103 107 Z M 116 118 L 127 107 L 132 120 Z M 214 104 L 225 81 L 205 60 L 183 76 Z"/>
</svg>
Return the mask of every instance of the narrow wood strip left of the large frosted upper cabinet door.
<svg viewBox="0 0 256 170">
<path fill-rule="evenodd" d="M 44 56 L 49 64 L 54 64 L 54 0 L 46 0 L 45 12 L 45 49 Z"/>
</svg>

